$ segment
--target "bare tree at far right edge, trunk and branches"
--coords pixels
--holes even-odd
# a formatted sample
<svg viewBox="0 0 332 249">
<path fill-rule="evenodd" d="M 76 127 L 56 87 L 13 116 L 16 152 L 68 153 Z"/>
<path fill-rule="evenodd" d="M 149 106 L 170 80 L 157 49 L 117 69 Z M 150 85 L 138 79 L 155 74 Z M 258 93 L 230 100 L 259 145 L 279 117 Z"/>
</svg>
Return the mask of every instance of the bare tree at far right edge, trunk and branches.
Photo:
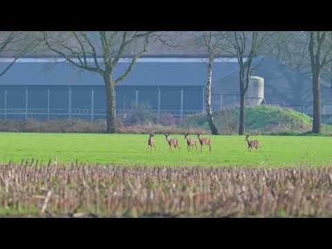
<svg viewBox="0 0 332 249">
<path fill-rule="evenodd" d="M 296 73 L 312 78 L 313 133 L 321 132 L 321 78 L 332 78 L 332 32 L 291 32 L 288 39 L 275 48 L 279 60 Z M 295 94 L 300 94 L 302 82 L 294 84 Z"/>
</svg>

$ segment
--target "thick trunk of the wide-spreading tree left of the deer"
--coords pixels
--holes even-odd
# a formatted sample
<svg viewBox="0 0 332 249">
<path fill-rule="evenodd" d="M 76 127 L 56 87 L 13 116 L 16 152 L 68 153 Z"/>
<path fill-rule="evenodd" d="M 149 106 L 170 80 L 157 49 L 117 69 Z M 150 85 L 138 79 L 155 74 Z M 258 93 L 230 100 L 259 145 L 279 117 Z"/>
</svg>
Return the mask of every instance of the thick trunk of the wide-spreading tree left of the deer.
<svg viewBox="0 0 332 249">
<path fill-rule="evenodd" d="M 107 109 L 107 133 L 116 133 L 116 91 L 115 84 L 111 75 L 104 75 L 104 84 L 106 90 L 106 109 Z"/>
</svg>

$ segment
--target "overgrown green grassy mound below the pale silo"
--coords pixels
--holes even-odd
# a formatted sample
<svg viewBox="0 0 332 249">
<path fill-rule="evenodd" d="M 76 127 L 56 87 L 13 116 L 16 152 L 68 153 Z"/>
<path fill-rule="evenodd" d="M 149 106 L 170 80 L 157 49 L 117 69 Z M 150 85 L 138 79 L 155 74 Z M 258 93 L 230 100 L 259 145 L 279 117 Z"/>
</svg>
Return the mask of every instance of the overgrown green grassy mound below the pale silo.
<svg viewBox="0 0 332 249">
<path fill-rule="evenodd" d="M 219 133 L 237 133 L 239 127 L 239 108 L 214 112 L 214 121 Z M 246 130 L 250 133 L 304 133 L 311 131 L 312 118 L 293 109 L 273 106 L 246 107 Z M 210 130 L 205 115 L 187 118 L 181 128 Z M 322 132 L 331 133 L 332 126 L 322 124 Z"/>
</svg>

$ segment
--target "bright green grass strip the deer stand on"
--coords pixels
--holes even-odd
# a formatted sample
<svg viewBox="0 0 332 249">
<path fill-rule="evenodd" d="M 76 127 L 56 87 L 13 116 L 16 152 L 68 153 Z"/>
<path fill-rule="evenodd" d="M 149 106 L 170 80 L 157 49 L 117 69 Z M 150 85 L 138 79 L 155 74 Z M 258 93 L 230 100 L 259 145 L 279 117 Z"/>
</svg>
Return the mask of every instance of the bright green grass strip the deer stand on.
<svg viewBox="0 0 332 249">
<path fill-rule="evenodd" d="M 195 136 L 190 136 L 195 137 Z M 0 160 L 48 160 L 61 163 L 116 165 L 331 165 L 332 138 L 323 136 L 252 136 L 261 142 L 261 151 L 248 152 L 243 136 L 210 136 L 212 152 L 188 152 L 183 136 L 181 149 L 169 152 L 165 136 L 156 135 L 156 151 L 148 151 L 147 135 L 89 133 L 1 133 Z"/>
</svg>

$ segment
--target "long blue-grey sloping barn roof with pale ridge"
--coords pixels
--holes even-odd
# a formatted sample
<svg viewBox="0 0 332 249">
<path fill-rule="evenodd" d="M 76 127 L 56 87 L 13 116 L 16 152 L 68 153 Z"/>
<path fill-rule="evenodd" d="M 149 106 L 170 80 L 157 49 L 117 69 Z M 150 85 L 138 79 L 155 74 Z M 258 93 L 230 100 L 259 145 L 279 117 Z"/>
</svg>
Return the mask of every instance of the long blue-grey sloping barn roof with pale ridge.
<svg viewBox="0 0 332 249">
<path fill-rule="evenodd" d="M 0 62 L 0 69 L 8 62 Z M 114 77 L 128 67 L 118 64 Z M 219 79 L 237 71 L 236 59 L 223 58 L 214 63 L 213 78 Z M 141 58 L 122 86 L 205 86 L 207 64 L 202 58 Z M 80 70 L 68 62 L 54 64 L 48 59 L 20 59 L 0 77 L 0 85 L 103 85 L 98 73 Z"/>
</svg>

